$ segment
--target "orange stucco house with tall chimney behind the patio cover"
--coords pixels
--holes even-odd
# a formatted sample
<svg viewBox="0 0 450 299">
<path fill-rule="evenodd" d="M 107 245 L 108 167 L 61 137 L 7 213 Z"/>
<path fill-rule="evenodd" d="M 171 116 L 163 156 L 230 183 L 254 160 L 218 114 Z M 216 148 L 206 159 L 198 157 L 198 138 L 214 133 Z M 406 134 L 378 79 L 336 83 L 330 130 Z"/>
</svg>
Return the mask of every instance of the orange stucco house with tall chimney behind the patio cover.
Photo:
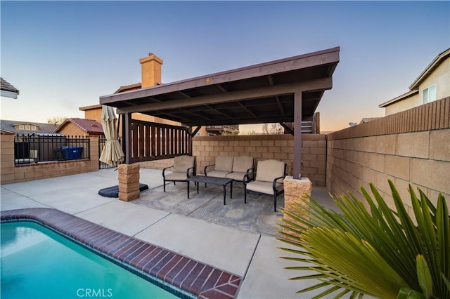
<svg viewBox="0 0 450 299">
<path fill-rule="evenodd" d="M 162 59 L 153 53 L 149 53 L 147 57 L 141 58 L 139 60 L 141 63 L 141 82 L 135 84 L 129 84 L 126 86 L 120 86 L 120 88 L 115 91 L 115 93 L 125 93 L 128 91 L 135 91 L 141 88 L 150 88 L 152 86 L 157 86 L 161 83 L 161 66 Z M 186 98 L 187 100 L 188 98 Z M 95 119 L 96 121 L 101 121 L 101 105 L 91 105 L 86 107 L 79 107 L 80 111 L 84 111 L 84 118 Z M 180 126 L 179 123 L 174 121 L 169 121 L 167 119 L 161 119 L 159 117 L 153 117 L 141 113 L 133 113 L 132 119 L 141 121 L 151 121 L 160 124 L 169 124 L 173 126 Z M 194 130 L 195 128 L 193 128 Z M 224 134 L 238 134 L 239 126 L 205 126 L 200 128 L 197 135 L 207 136 L 207 135 L 224 135 Z M 122 132 L 120 132 L 122 134 Z"/>
</svg>

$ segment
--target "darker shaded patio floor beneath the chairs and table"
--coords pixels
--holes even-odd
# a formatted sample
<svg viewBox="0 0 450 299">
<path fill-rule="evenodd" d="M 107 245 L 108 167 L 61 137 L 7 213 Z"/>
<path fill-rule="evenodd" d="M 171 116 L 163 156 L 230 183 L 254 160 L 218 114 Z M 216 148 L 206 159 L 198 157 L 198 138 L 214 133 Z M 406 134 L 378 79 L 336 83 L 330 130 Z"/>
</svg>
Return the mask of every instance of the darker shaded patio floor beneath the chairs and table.
<svg viewBox="0 0 450 299">
<path fill-rule="evenodd" d="M 147 206 L 169 213 L 186 215 L 191 218 L 206 220 L 240 230 L 256 232 L 277 237 L 277 222 L 283 217 L 280 208 L 284 206 L 283 195 L 278 197 L 277 212 L 274 213 L 274 201 L 269 196 L 248 194 L 244 203 L 244 188 L 240 182 L 233 182 L 233 198 L 230 198 L 230 187 L 226 186 L 226 205 L 223 201 L 223 188 L 217 185 L 200 184 L 199 193 L 191 182 L 191 196 L 187 197 L 185 182 L 167 183 L 166 192 L 162 188 L 161 171 L 141 168 L 141 183 L 158 185 L 141 192 L 141 197 L 130 201 L 132 204 Z M 156 183 L 159 182 L 161 183 Z M 325 187 L 313 187 L 313 197 L 324 206 L 335 208 L 333 200 Z"/>
</svg>

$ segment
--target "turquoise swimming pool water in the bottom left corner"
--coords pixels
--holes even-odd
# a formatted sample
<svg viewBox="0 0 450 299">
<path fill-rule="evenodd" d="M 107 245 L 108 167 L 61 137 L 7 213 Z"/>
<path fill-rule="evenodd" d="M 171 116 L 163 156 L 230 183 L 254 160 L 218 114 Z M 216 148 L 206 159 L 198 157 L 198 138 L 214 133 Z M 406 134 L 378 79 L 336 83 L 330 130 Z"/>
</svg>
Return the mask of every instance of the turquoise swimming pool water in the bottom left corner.
<svg viewBox="0 0 450 299">
<path fill-rule="evenodd" d="M 34 222 L 1 224 L 1 298 L 177 298 Z"/>
</svg>

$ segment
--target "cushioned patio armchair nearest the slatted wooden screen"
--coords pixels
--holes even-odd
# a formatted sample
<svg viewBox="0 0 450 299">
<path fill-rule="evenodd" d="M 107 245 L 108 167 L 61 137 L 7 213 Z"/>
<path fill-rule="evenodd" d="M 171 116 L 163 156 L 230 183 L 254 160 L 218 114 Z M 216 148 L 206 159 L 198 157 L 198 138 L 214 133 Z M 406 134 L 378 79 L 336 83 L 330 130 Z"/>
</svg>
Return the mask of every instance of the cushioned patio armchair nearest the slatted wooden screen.
<svg viewBox="0 0 450 299">
<path fill-rule="evenodd" d="M 172 168 L 172 173 L 166 174 L 166 170 L 169 168 Z M 174 185 L 175 182 L 186 182 L 187 178 L 190 178 L 191 176 L 195 175 L 195 170 L 196 170 L 195 157 L 192 156 L 174 157 L 174 165 L 162 169 L 164 192 L 166 192 L 166 182 L 174 182 Z"/>
</svg>

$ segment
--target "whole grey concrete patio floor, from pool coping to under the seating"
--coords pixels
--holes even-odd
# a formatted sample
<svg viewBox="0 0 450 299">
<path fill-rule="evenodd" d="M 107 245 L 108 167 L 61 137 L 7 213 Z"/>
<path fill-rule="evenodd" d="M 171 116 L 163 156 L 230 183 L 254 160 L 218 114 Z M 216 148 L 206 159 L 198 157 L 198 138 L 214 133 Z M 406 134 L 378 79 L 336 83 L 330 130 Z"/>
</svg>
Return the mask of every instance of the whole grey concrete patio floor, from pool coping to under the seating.
<svg viewBox="0 0 450 299">
<path fill-rule="evenodd" d="M 244 204 L 243 187 L 236 183 L 233 199 L 227 190 L 224 206 L 220 186 L 200 185 L 196 194 L 191 185 L 187 199 L 185 183 L 171 183 L 162 192 L 160 170 L 141 168 L 140 181 L 149 190 L 131 202 L 98 195 L 98 190 L 117 185 L 113 169 L 3 185 L 0 208 L 56 208 L 232 272 L 243 277 L 237 298 L 311 298 L 319 293 L 295 294 L 314 281 L 288 280 L 301 272 L 283 269 L 293 264 L 279 258 L 290 254 L 278 249 L 286 244 L 276 240 L 281 213 L 273 212 L 270 197 L 250 196 Z M 334 208 L 325 188 L 314 188 L 313 197 Z"/>
</svg>

